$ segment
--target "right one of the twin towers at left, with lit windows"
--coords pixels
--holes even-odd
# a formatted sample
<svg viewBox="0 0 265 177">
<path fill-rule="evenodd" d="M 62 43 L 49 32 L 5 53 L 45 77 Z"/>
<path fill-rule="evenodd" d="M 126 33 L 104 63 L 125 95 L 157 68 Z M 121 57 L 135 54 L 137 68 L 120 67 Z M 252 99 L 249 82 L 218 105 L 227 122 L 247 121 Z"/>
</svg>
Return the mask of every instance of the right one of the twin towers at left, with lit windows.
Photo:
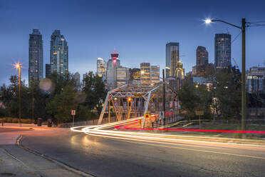
<svg viewBox="0 0 265 177">
<path fill-rule="evenodd" d="M 60 30 L 53 31 L 51 34 L 51 73 L 68 73 L 68 45 Z"/>
</svg>

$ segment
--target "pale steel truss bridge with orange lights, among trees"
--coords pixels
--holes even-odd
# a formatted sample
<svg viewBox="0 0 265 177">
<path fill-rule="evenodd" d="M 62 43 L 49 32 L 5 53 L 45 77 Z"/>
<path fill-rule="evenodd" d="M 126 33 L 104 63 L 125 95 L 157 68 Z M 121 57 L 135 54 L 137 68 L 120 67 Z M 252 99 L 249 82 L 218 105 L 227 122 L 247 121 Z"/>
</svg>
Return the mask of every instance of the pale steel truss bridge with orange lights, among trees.
<svg viewBox="0 0 265 177">
<path fill-rule="evenodd" d="M 177 92 L 168 84 L 165 84 L 165 117 L 170 115 L 180 115 L 180 101 Z M 163 111 L 163 83 L 157 86 L 146 86 L 142 84 L 128 84 L 108 91 L 103 109 L 98 119 L 98 125 L 108 120 L 110 123 L 114 114 L 115 121 L 128 120 L 130 118 L 141 117 L 142 128 L 163 121 L 159 112 Z M 145 118 L 145 114 L 152 115 L 152 118 Z M 108 114 L 108 116 L 106 115 Z M 155 118 L 154 118 L 155 117 Z M 170 121 L 171 122 L 171 121 Z M 164 123 L 165 125 L 165 123 Z"/>
</svg>

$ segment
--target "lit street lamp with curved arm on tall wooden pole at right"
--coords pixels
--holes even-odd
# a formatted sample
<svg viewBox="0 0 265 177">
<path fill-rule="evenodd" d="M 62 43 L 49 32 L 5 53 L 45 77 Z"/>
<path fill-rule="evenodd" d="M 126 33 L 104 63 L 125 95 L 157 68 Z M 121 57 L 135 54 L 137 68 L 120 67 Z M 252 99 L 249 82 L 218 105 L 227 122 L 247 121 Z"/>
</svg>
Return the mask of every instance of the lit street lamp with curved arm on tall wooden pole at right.
<svg viewBox="0 0 265 177">
<path fill-rule="evenodd" d="M 210 24 L 214 21 L 219 21 L 224 24 L 229 24 L 230 26 L 234 26 L 237 29 L 241 29 L 242 33 L 242 84 L 241 84 L 241 129 L 244 131 L 246 129 L 246 19 L 241 20 L 241 26 L 237 26 L 234 24 L 230 24 L 227 21 L 222 21 L 218 19 L 205 19 L 204 22 L 206 24 Z"/>
</svg>

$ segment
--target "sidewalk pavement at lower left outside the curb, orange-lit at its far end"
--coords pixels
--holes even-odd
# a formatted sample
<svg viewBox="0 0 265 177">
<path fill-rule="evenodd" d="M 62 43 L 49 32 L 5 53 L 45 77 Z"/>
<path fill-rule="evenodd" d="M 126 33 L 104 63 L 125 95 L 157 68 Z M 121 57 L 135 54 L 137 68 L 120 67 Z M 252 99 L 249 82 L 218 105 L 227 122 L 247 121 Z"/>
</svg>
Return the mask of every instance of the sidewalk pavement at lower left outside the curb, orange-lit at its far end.
<svg viewBox="0 0 265 177">
<path fill-rule="evenodd" d="M 68 128 L 38 127 L 33 124 L 9 124 L 0 126 L 0 176 L 89 176 L 63 163 L 41 156 L 16 145 L 16 139 L 21 134 L 46 134 L 58 131 L 69 131 Z M 6 130 L 6 131 L 5 131 Z"/>
</svg>

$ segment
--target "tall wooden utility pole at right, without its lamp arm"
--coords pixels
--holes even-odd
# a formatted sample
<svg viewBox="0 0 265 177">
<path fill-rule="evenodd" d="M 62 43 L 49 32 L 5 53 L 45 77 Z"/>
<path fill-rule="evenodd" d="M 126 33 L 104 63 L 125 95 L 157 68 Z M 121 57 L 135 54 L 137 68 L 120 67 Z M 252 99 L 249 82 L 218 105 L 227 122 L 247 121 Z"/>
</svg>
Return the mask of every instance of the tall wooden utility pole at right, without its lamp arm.
<svg viewBox="0 0 265 177">
<path fill-rule="evenodd" d="M 242 19 L 241 128 L 246 130 L 246 19 Z"/>
</svg>

